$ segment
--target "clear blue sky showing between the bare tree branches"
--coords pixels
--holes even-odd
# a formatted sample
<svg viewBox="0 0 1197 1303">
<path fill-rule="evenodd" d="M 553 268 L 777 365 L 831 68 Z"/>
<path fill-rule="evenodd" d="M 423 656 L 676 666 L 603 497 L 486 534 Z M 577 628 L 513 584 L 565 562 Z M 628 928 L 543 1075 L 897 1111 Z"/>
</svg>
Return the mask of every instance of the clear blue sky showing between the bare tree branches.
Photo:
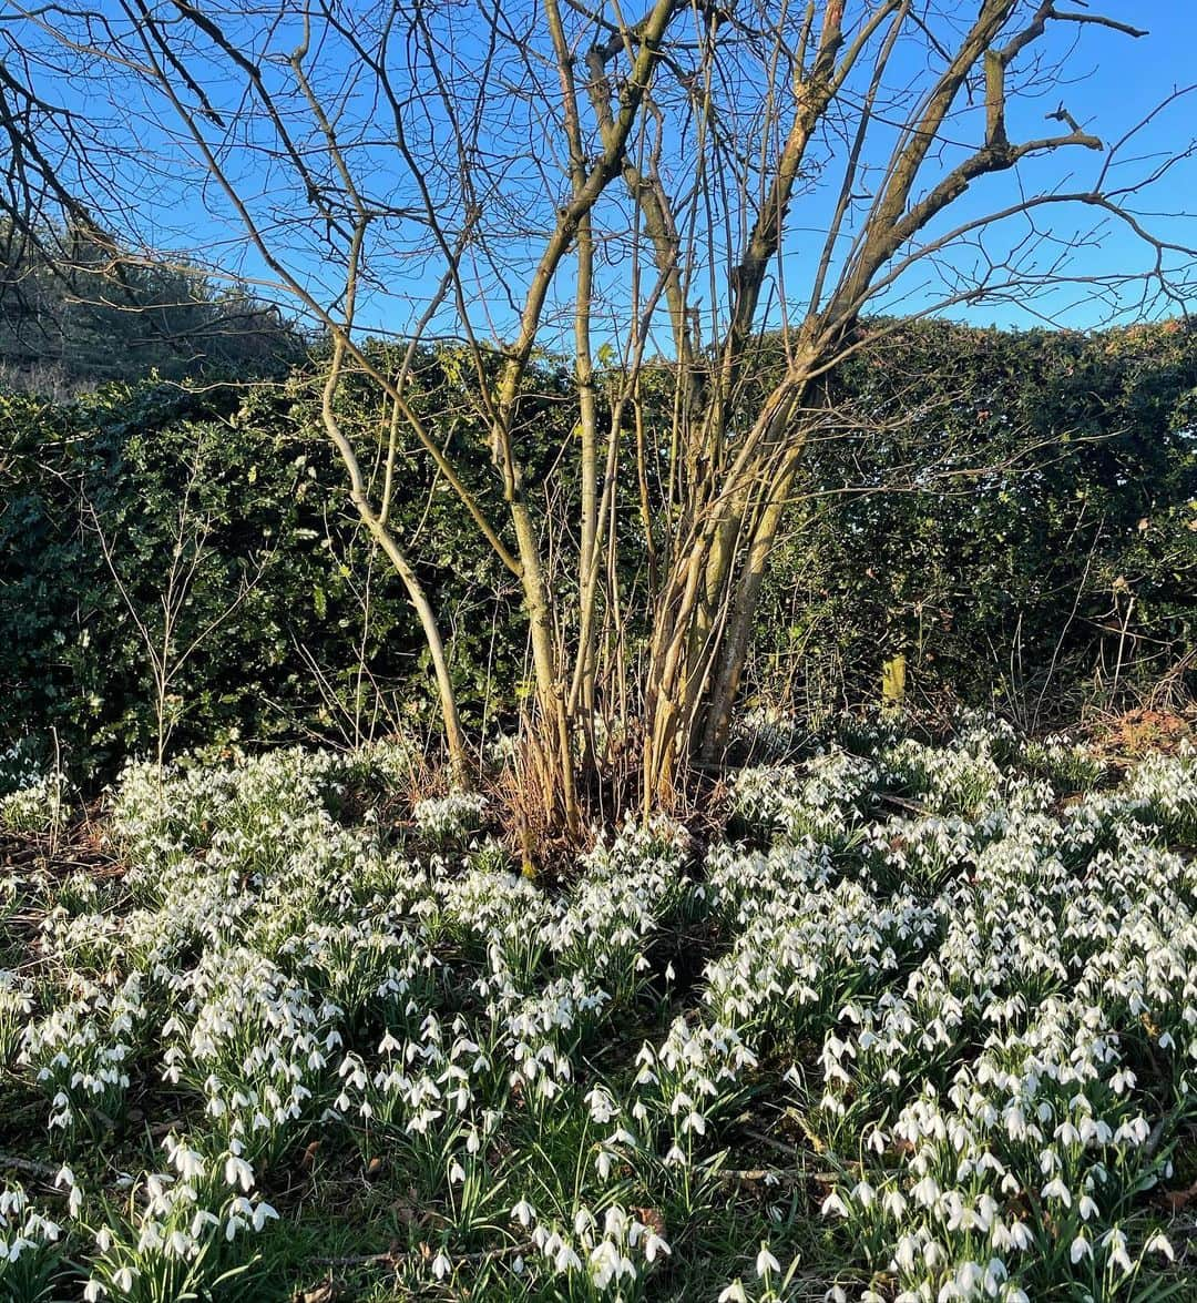
<svg viewBox="0 0 1197 1303">
<path fill-rule="evenodd" d="M 528 14 L 529 3 L 530 0 L 508 0 L 507 12 L 512 22 Z M 948 17 L 939 20 L 942 33 L 950 35 L 952 22 L 974 16 L 976 3 L 977 0 L 960 0 L 957 9 L 947 7 Z M 219 12 L 221 0 L 211 0 L 211 5 Z M 861 12 L 857 5 L 858 0 L 849 0 L 849 13 Z M 100 8 L 107 10 L 111 7 L 107 0 L 102 0 Z M 380 13 L 383 8 L 354 10 L 354 7 L 349 5 L 346 12 Z M 1150 35 L 1136 40 L 1093 25 L 1052 26 L 1054 44 L 1052 40 L 1046 43 L 1046 53 L 1063 55 L 1068 52 L 1069 42 L 1073 38 L 1077 40 L 1077 48 L 1068 59 L 1068 83 L 1054 89 L 1047 98 L 1012 95 L 1008 111 L 1012 139 L 1063 130 L 1059 122 L 1045 120 L 1045 115 L 1063 104 L 1085 132 L 1108 143 L 1140 122 L 1174 90 L 1197 81 L 1192 57 L 1193 50 L 1197 48 L 1197 0 L 1154 0 L 1140 4 L 1128 0 L 1094 0 L 1088 9 L 1084 9 L 1080 0 L 1060 0 L 1059 8 L 1072 12 L 1099 12 L 1121 22 L 1149 27 Z M 477 61 L 482 43 L 477 30 L 472 27 L 472 22 L 477 22 L 478 10 L 462 4 L 435 12 L 436 21 L 444 23 L 444 31 L 438 35 L 444 36 L 445 47 L 436 61 L 438 66 L 429 64 L 410 73 L 414 78 L 412 112 L 417 115 L 412 130 L 413 142 L 418 150 L 423 150 L 434 186 L 439 186 L 435 194 L 436 203 L 452 224 L 453 210 L 461 210 L 462 197 L 455 192 L 452 168 L 438 171 L 452 152 L 452 142 L 447 133 L 449 109 L 436 108 L 435 96 L 432 107 L 429 108 L 426 93 L 435 77 L 443 74 L 451 78 L 447 104 L 456 103 L 455 96 L 458 94 L 468 95 L 469 65 Z M 470 17 L 472 13 L 474 18 Z M 237 21 L 229 18 L 232 23 Z M 288 25 L 292 30 L 285 30 Z M 135 42 L 135 34 L 130 39 Z M 259 38 L 251 29 L 246 29 L 245 39 L 253 44 Z M 277 79 L 276 85 L 290 86 L 289 94 L 293 96 L 294 87 L 289 82 L 287 64 L 287 52 L 297 40 L 293 16 L 275 31 L 272 39 L 274 56 L 266 59 L 263 66 L 267 68 L 267 76 Z M 461 57 L 461 65 L 455 69 L 457 56 Z M 912 40 L 909 47 L 903 47 L 895 60 L 894 70 L 899 76 L 907 73 L 913 76 L 920 69 L 912 60 L 917 61 L 923 56 L 925 51 L 920 42 Z M 345 85 L 359 76 L 358 65 L 359 60 L 346 52 L 344 46 L 339 48 L 330 46 L 319 63 L 323 90 L 333 98 L 341 94 Z M 191 66 L 204 82 L 204 90 L 212 102 L 225 108 L 227 115 L 232 115 L 233 119 L 240 115 L 236 129 L 242 138 L 259 146 L 268 146 L 270 142 L 261 134 L 257 120 L 238 108 L 245 100 L 242 87 L 236 83 L 236 78 L 231 78 L 228 70 L 221 69 L 215 60 L 210 66 L 206 65 L 202 50 L 195 53 Z M 314 61 L 313 68 L 317 66 Z M 452 82 L 455 73 L 461 79 Z M 408 74 L 409 69 L 404 68 L 401 76 Z M 505 86 L 518 81 L 521 76 L 524 73 L 514 55 L 511 56 L 507 68 L 492 70 L 495 85 Z M 143 171 L 137 180 L 134 181 L 129 169 L 130 159 L 129 167 L 117 172 L 113 181 L 117 190 L 128 189 L 135 197 L 135 210 L 132 216 L 135 220 L 137 233 L 147 246 L 177 250 L 184 255 L 191 254 L 216 267 L 240 270 L 249 278 L 270 279 L 262 259 L 247 250 L 244 231 L 232 218 L 228 203 L 220 197 L 219 190 L 210 181 L 203 181 L 202 169 L 194 165 L 194 160 L 188 164 L 184 159 L 188 150 L 186 141 L 178 134 L 172 138 L 158 125 L 163 120 L 160 102 L 154 103 L 135 86 L 122 83 L 119 76 L 115 79 L 95 77 L 94 69 L 86 64 L 77 68 L 74 76 L 55 90 L 61 95 L 60 102 L 81 109 L 85 117 L 103 119 L 106 121 L 103 130 L 111 138 L 124 142 L 125 146 L 135 146 L 139 151 L 135 156 Z M 412 198 L 410 179 L 405 181 L 400 175 L 401 165 L 396 165 L 393 141 L 386 141 L 386 115 L 378 120 L 380 129 L 374 130 L 369 115 L 378 111 L 370 87 L 363 81 L 353 95 L 357 98 L 350 96 L 345 103 L 366 115 L 362 121 L 370 121 L 371 134 L 383 139 L 383 146 L 363 149 L 358 156 L 359 172 L 367 188 L 373 194 L 378 194 L 383 203 L 399 203 Z M 505 106 L 499 104 L 499 108 L 503 113 L 507 112 Z M 499 202 L 494 195 L 487 197 L 487 219 L 499 211 L 509 214 L 511 224 L 511 232 L 501 237 L 503 242 L 495 244 L 500 250 L 495 262 L 487 265 L 485 259 L 475 258 L 470 272 L 474 279 L 468 285 L 464 310 L 474 328 L 483 335 L 498 337 L 509 335 L 522 289 L 542 245 L 542 237 L 535 232 L 543 228 L 546 220 L 551 223 L 552 206 L 561 202 L 567 192 L 557 138 L 552 130 L 543 129 L 543 124 L 539 124 L 538 129 L 538 113 L 542 111 L 543 104 L 538 106 L 529 99 L 522 107 L 517 107 L 509 121 L 501 116 L 496 117 L 499 125 L 488 126 L 478 138 L 483 149 L 492 151 L 491 165 L 498 162 L 505 173 L 505 185 Z M 976 145 L 981 113 L 979 106 L 965 108 L 951 124 L 963 143 Z M 1159 160 L 1189 147 L 1194 124 L 1197 124 L 1197 94 L 1174 103 L 1134 137 L 1133 143 L 1124 151 L 1128 162 L 1123 175 L 1129 179 L 1148 173 Z M 679 142 L 669 143 L 676 146 Z M 317 156 L 322 147 L 319 133 L 309 130 L 305 147 L 313 151 L 311 156 Z M 873 150 L 873 154 L 866 154 L 865 162 L 873 164 L 874 176 L 878 176 L 879 165 L 888 152 L 886 139 L 878 141 Z M 191 152 L 194 154 L 194 150 Z M 947 158 L 952 156 L 948 151 Z M 264 159 L 266 155 L 258 158 Z M 337 250 L 324 242 L 327 232 L 319 224 L 305 225 L 292 222 L 297 212 L 302 214 L 305 210 L 302 190 L 296 189 L 294 176 L 288 177 L 285 167 L 280 167 L 276 160 L 261 164 L 251 162 L 253 155 L 244 150 L 240 155 L 234 154 L 233 159 L 238 189 L 247 198 L 255 219 L 285 254 L 284 261 L 288 267 L 322 298 L 332 301 L 341 276 Z M 831 149 L 828 162 L 831 164 L 828 175 L 835 182 L 836 147 Z M 1004 207 L 1017 193 L 1019 184 L 1030 190 L 1041 185 L 1088 189 L 1102 162 L 1101 154 L 1076 147 L 1068 150 L 1067 155 L 1063 151 L 1052 155 L 1046 163 L 1026 159 L 1020 164 L 1017 179 L 1006 173 L 977 182 L 969 194 L 951 207 L 952 222 L 948 224 L 955 225 L 961 218 L 974 218 Z M 679 155 L 676 168 L 679 185 L 685 182 L 686 167 L 685 158 Z M 331 172 L 331 168 L 328 171 Z M 864 180 L 864 189 L 867 190 L 867 172 Z M 831 202 L 824 190 L 800 194 L 792 206 L 791 235 L 783 245 L 782 270 L 785 300 L 798 310 L 805 306 L 804 292 L 809 293 L 808 287 L 818 261 Z M 1187 159 L 1163 176 L 1150 194 L 1136 201 L 1133 206 L 1144 224 L 1154 232 L 1180 244 L 1197 245 L 1197 231 L 1194 231 L 1197 219 L 1192 215 L 1197 211 L 1197 160 Z M 508 218 L 504 216 L 503 220 Z M 621 220 L 619 207 L 610 210 L 604 220 L 611 229 L 615 229 Z M 722 229 L 719 232 L 724 248 L 720 249 L 716 263 L 719 259 L 727 261 L 728 249 L 736 249 L 742 240 L 742 229 L 736 232 L 735 222 L 733 212 L 728 240 L 723 238 Z M 1025 218 L 1013 219 L 986 231 L 976 245 L 953 253 L 939 271 L 946 272 L 948 281 L 959 276 L 966 284 L 973 278 L 973 265 L 978 258 L 1000 263 L 1012 251 L 1024 261 L 1024 270 L 1029 272 L 1032 281 L 1058 258 L 1062 259 L 1059 270 L 1065 278 L 1116 276 L 1128 270 L 1144 268 L 1150 262 L 1150 250 L 1123 223 L 1091 208 L 1052 207 L 1039 210 L 1033 236 Z M 623 263 L 615 263 L 612 259 L 612 266 L 606 272 L 608 278 L 606 288 L 613 291 L 611 301 L 616 305 L 620 301 L 620 287 L 624 284 L 620 278 L 628 275 L 627 254 L 621 257 Z M 1184 265 L 1190 259 L 1174 255 L 1174 261 L 1177 265 L 1175 270 L 1184 280 L 1185 274 L 1190 271 Z M 388 242 L 376 255 L 375 267 L 378 284 L 365 297 L 361 323 L 366 328 L 384 328 L 402 334 L 418 318 L 440 278 L 443 265 L 438 262 L 435 250 L 430 255 L 426 231 L 418 222 L 405 225 L 404 220 L 396 220 L 388 228 Z M 716 266 L 716 272 L 719 271 Z M 543 343 L 550 348 L 565 345 L 568 335 L 569 268 L 564 268 L 564 272 L 559 323 L 554 324 L 550 317 L 543 337 Z M 716 283 L 718 280 L 719 275 Z M 696 281 L 696 301 L 702 298 L 699 291 L 703 288 L 699 278 Z M 775 288 L 772 298 L 775 305 L 779 292 Z M 870 308 L 891 311 L 925 310 L 940 300 L 943 293 L 943 276 L 931 283 L 923 268 L 904 278 L 892 292 L 874 301 Z M 977 304 L 957 304 L 946 311 L 952 317 L 983 324 L 1034 326 L 1050 321 L 1055 324 L 1088 328 L 1119 315 L 1123 319 L 1133 319 L 1137 315 L 1159 315 L 1180 310 L 1180 305 L 1175 302 L 1155 302 L 1149 311 L 1145 311 L 1136 294 L 1137 287 L 1116 291 L 1107 284 L 1105 293 L 1099 294 L 1093 285 L 1064 280 L 1050 292 L 1008 292 Z M 627 294 L 623 298 L 627 301 Z M 714 317 L 712 294 L 707 293 L 706 300 L 702 310 Z M 725 308 L 725 300 L 723 302 L 719 300 L 720 292 L 716 288 L 714 291 L 716 308 Z M 460 332 L 461 328 L 461 313 L 457 313 L 456 323 L 453 315 L 452 310 L 445 310 L 443 317 L 444 327 L 451 334 Z M 620 315 L 624 318 L 623 324 L 619 323 Z M 617 341 L 620 330 L 627 326 L 627 311 L 620 311 L 616 306 L 610 334 L 604 334 L 599 318 L 597 343 L 604 337 Z M 780 321 L 776 306 L 771 321 Z M 710 335 L 714 336 L 715 332 L 716 326 L 711 321 Z M 660 347 L 668 345 L 663 340 Z"/>
</svg>

